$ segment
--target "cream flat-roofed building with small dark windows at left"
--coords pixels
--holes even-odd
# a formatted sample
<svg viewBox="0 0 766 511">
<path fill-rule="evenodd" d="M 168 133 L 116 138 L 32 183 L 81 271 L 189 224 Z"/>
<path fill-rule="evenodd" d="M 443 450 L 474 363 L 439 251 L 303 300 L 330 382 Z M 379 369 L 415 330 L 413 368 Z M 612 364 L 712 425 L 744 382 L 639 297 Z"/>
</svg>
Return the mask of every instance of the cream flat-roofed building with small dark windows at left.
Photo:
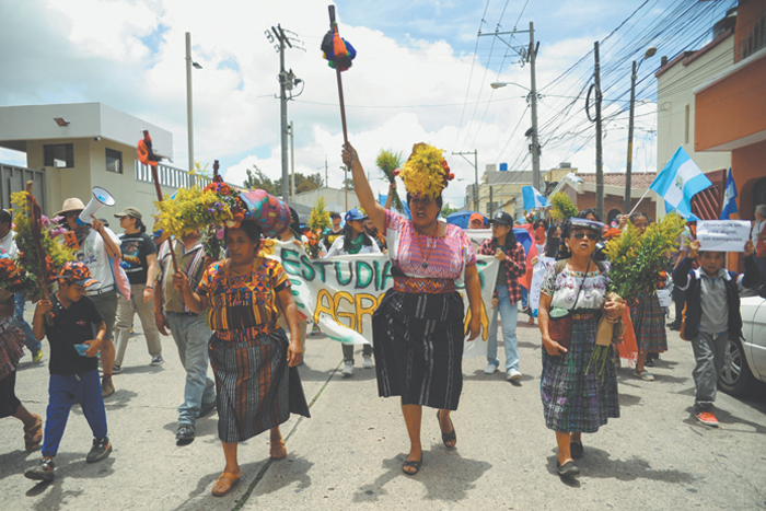
<svg viewBox="0 0 766 511">
<path fill-rule="evenodd" d="M 170 131 L 102 103 L 0 107 L 0 147 L 24 152 L 27 167 L 2 165 L 2 207 L 10 206 L 10 194 L 24 189 L 26 179 L 34 181 L 35 197 L 49 216 L 69 197 L 88 204 L 93 187 L 101 186 L 115 197 L 116 205 L 98 217 L 114 222 L 114 213 L 134 206 L 151 229 L 156 193 L 151 173 L 138 164 L 136 151 L 144 129 L 152 137 L 154 153 L 172 158 Z M 182 170 L 160 167 L 164 194 L 173 194 L 193 179 Z"/>
</svg>

